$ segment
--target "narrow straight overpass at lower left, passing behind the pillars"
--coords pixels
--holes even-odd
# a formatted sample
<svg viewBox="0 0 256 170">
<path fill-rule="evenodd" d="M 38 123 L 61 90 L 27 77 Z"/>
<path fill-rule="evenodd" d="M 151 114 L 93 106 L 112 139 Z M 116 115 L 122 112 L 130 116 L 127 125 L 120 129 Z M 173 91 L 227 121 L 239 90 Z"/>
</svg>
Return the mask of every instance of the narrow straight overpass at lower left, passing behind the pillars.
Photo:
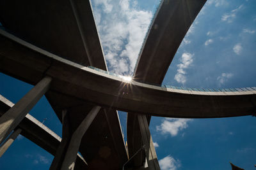
<svg viewBox="0 0 256 170">
<path fill-rule="evenodd" d="M 0 95 L 0 115 L 3 115 L 14 104 Z M 20 122 L 18 128 L 22 129 L 22 136 L 28 138 L 36 145 L 40 146 L 52 155 L 56 154 L 56 150 L 60 145 L 61 138 L 52 132 L 44 124 L 36 120 L 36 118 L 27 114 L 26 117 Z M 77 154 L 77 162 L 75 169 L 86 169 L 87 164 L 81 155 Z"/>
</svg>

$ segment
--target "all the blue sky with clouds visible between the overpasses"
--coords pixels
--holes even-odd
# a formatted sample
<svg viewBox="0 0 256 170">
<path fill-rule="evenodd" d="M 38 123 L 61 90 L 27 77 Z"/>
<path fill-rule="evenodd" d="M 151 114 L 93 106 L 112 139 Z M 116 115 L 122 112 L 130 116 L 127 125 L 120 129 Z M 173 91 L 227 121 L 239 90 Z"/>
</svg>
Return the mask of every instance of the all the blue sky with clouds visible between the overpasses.
<svg viewBox="0 0 256 170">
<path fill-rule="evenodd" d="M 93 0 L 109 71 L 132 74 L 158 0 Z M 183 87 L 255 87 L 256 1 L 209 0 L 182 41 L 163 84 Z M 0 74 L 0 94 L 13 103 L 31 85 Z M 44 108 L 44 109 L 42 109 Z M 61 124 L 43 97 L 31 115 L 61 136 Z M 119 112 L 126 131 L 126 113 Z M 166 169 L 255 169 L 256 118 L 152 117 L 157 157 Z M 126 134 L 126 132 L 125 132 Z M 47 169 L 52 155 L 19 136 L 0 159 L 2 169 Z"/>
</svg>

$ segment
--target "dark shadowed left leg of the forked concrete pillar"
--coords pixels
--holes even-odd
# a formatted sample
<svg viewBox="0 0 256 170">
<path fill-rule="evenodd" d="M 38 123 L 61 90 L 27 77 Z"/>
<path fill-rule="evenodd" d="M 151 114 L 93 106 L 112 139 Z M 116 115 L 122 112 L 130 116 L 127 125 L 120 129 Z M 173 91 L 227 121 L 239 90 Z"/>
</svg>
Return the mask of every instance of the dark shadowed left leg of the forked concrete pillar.
<svg viewBox="0 0 256 170">
<path fill-rule="evenodd" d="M 68 144 L 71 138 L 70 124 L 67 110 L 62 111 L 62 139 L 58 146 L 58 150 L 55 153 L 55 157 L 52 160 L 52 164 L 49 170 L 58 170 L 61 168 L 62 162 L 67 152 Z"/>
</svg>

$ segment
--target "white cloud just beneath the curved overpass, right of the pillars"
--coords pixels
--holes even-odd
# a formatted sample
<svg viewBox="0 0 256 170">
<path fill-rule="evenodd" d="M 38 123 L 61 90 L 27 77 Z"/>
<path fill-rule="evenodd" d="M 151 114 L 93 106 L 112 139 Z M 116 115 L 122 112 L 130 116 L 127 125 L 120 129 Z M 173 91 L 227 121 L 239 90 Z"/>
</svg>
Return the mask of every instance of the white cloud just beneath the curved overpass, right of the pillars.
<svg viewBox="0 0 256 170">
<path fill-rule="evenodd" d="M 188 127 L 190 118 L 164 118 L 161 125 L 156 126 L 156 130 L 162 134 L 170 134 L 172 137 L 177 136 L 179 131 Z"/>
</svg>

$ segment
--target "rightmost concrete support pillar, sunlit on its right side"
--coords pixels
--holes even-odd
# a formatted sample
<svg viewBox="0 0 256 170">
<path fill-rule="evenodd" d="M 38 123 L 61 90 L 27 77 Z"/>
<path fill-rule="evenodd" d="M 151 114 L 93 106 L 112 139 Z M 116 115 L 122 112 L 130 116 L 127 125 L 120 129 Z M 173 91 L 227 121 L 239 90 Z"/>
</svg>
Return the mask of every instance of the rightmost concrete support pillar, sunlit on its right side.
<svg viewBox="0 0 256 170">
<path fill-rule="evenodd" d="M 142 141 L 145 145 L 145 154 L 147 158 L 148 169 L 160 170 L 154 143 L 152 141 L 152 137 L 148 128 L 146 115 L 138 115 L 138 121 L 140 125 Z"/>
</svg>

